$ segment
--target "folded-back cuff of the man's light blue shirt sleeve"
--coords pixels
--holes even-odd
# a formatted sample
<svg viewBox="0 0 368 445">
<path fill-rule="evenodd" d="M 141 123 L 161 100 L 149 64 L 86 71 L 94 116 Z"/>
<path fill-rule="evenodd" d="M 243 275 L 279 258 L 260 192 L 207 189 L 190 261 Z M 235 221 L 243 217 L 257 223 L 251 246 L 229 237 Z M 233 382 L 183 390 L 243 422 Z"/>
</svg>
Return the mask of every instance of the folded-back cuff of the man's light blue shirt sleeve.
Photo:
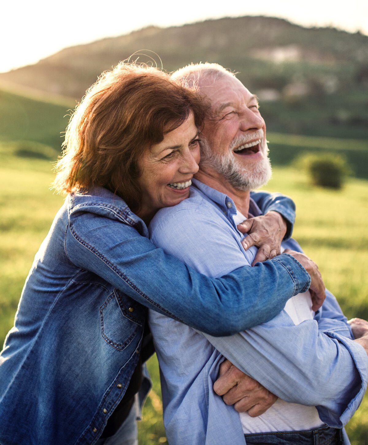
<svg viewBox="0 0 368 445">
<path fill-rule="evenodd" d="M 344 346 L 350 352 L 350 355 L 352 356 L 352 359 L 360 376 L 360 389 L 348 403 L 348 406 L 344 409 L 344 411 L 341 414 L 338 414 L 340 415 L 340 417 L 333 416 L 331 411 L 324 407 L 316 407 L 321 421 L 325 422 L 332 428 L 343 428 L 358 409 L 360 402 L 363 399 L 364 393 L 367 390 L 368 355 L 359 343 L 348 340 L 346 337 L 336 334 L 336 332 L 327 331 L 324 332 L 324 334 L 344 344 Z M 344 405 L 342 405 L 342 408 L 344 408 Z"/>
</svg>

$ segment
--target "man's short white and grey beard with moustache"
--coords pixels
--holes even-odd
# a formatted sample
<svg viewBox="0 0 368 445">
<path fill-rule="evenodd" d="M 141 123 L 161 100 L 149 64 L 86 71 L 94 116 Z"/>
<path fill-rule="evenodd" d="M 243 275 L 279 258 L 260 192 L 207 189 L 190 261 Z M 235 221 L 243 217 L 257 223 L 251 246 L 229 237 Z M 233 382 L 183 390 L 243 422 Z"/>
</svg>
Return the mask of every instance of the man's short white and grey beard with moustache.
<svg viewBox="0 0 368 445">
<path fill-rule="evenodd" d="M 261 146 L 262 152 L 265 155 L 264 158 L 261 161 L 249 163 L 246 166 L 241 165 L 236 161 L 236 155 L 234 155 L 232 150 L 257 138 L 262 140 Z M 220 173 L 237 190 L 256 190 L 267 184 L 271 179 L 272 169 L 263 130 L 259 130 L 249 136 L 244 135 L 234 139 L 230 144 L 228 153 L 223 155 L 213 153 L 208 142 L 203 137 L 201 137 L 200 145 L 200 164 L 211 167 L 212 170 Z"/>
</svg>

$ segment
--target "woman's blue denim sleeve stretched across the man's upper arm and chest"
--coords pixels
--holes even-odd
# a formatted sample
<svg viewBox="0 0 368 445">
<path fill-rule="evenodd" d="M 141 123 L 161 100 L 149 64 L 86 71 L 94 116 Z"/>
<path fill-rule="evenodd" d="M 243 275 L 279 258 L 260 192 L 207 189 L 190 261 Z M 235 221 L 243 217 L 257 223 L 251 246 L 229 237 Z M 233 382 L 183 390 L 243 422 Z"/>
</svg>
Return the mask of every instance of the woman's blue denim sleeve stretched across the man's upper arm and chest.
<svg viewBox="0 0 368 445">
<path fill-rule="evenodd" d="M 155 248 L 118 211 L 110 208 L 106 216 L 96 209 L 70 212 L 65 232 L 70 261 L 144 306 L 203 332 L 230 335 L 270 320 L 292 295 L 309 287 L 308 273 L 285 254 L 210 279 Z"/>
</svg>

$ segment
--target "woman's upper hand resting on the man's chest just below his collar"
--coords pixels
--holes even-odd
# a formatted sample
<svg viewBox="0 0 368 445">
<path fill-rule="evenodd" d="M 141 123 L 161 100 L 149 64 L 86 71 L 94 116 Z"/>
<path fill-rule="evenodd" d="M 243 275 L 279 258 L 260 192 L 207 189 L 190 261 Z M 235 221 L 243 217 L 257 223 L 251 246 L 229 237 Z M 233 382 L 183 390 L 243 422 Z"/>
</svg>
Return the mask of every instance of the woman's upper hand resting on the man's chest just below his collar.
<svg viewBox="0 0 368 445">
<path fill-rule="evenodd" d="M 258 261 L 266 261 L 280 255 L 281 241 L 284 239 L 287 227 L 280 213 L 270 211 L 264 216 L 246 219 L 238 225 L 241 233 L 248 233 L 242 240 L 244 250 L 251 246 L 258 247 L 252 266 Z"/>
</svg>

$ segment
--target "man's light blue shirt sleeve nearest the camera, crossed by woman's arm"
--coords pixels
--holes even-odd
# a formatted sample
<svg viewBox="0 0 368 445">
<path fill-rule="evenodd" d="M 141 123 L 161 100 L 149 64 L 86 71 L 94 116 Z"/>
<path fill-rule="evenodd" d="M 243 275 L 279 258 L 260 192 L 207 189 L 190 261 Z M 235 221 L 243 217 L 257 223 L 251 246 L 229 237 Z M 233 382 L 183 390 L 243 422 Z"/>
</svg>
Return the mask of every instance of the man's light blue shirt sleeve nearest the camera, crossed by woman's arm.
<svg viewBox="0 0 368 445">
<path fill-rule="evenodd" d="M 231 229 L 198 211 L 171 212 L 155 227 L 152 239 L 210 276 L 248 263 Z M 258 289 L 263 286 L 257 283 Z M 367 387 L 364 349 L 335 332 L 320 332 L 316 320 L 295 325 L 282 311 L 268 323 L 234 336 L 205 336 L 237 368 L 278 397 L 316 406 L 321 420 L 336 428 L 349 420 Z"/>
</svg>

